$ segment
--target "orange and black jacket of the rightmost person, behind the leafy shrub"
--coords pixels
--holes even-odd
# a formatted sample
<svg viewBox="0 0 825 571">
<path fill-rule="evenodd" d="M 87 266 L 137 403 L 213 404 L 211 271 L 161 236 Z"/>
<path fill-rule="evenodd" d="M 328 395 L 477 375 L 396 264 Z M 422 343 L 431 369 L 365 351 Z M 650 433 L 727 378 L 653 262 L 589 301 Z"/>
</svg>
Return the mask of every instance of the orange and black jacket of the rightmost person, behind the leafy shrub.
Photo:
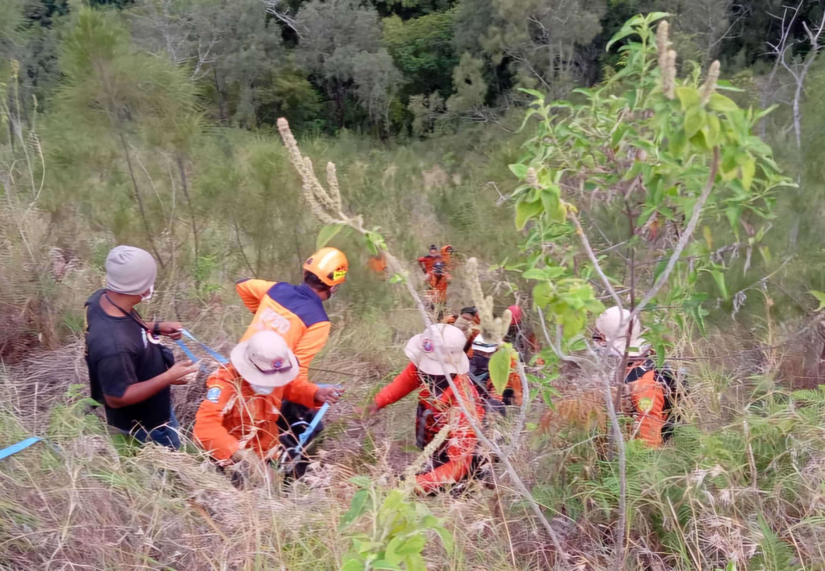
<svg viewBox="0 0 825 571">
<path fill-rule="evenodd" d="M 668 394 L 672 382 L 670 373 L 658 371 L 652 358 L 631 361 L 625 368 L 625 391 L 635 408 L 639 438 L 651 446 L 662 446 L 662 428 L 671 408 Z"/>
</svg>

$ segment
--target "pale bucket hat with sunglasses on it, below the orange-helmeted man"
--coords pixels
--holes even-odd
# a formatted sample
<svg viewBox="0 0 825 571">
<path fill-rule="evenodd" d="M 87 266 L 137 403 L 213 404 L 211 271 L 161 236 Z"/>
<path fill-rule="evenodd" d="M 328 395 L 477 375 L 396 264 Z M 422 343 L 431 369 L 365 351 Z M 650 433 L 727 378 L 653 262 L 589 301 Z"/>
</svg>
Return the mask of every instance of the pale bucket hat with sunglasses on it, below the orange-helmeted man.
<svg viewBox="0 0 825 571">
<path fill-rule="evenodd" d="M 229 353 L 229 362 L 251 385 L 284 386 L 298 377 L 298 359 L 275 331 L 261 331 Z"/>
</svg>

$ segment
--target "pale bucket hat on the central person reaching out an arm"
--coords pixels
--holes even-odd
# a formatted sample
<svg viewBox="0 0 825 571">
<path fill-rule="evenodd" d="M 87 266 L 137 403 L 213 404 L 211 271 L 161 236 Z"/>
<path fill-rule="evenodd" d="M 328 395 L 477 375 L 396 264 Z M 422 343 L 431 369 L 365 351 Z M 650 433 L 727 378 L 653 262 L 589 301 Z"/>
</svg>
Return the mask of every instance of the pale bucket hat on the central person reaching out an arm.
<svg viewBox="0 0 825 571">
<path fill-rule="evenodd" d="M 469 358 L 464 353 L 466 343 L 467 338 L 458 327 L 439 323 L 430 325 L 422 334 L 410 339 L 404 353 L 419 371 L 428 375 L 443 375 L 445 372 L 464 375 L 469 372 Z M 443 368 L 436 357 L 436 349 L 441 349 Z"/>
</svg>

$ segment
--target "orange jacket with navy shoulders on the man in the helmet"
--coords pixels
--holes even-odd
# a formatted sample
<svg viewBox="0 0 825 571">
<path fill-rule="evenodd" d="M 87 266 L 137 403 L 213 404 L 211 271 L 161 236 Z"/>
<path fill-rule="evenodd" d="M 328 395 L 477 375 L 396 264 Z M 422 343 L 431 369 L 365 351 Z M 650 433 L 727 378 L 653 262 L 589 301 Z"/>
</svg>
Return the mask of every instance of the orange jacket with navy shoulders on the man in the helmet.
<svg viewBox="0 0 825 571">
<path fill-rule="evenodd" d="M 300 372 L 295 381 L 309 382 L 309 365 L 327 343 L 332 326 L 318 294 L 305 283 L 293 285 L 263 279 L 242 279 L 235 289 L 243 304 L 255 314 L 239 342 L 260 331 L 275 331 L 298 359 Z"/>
</svg>

